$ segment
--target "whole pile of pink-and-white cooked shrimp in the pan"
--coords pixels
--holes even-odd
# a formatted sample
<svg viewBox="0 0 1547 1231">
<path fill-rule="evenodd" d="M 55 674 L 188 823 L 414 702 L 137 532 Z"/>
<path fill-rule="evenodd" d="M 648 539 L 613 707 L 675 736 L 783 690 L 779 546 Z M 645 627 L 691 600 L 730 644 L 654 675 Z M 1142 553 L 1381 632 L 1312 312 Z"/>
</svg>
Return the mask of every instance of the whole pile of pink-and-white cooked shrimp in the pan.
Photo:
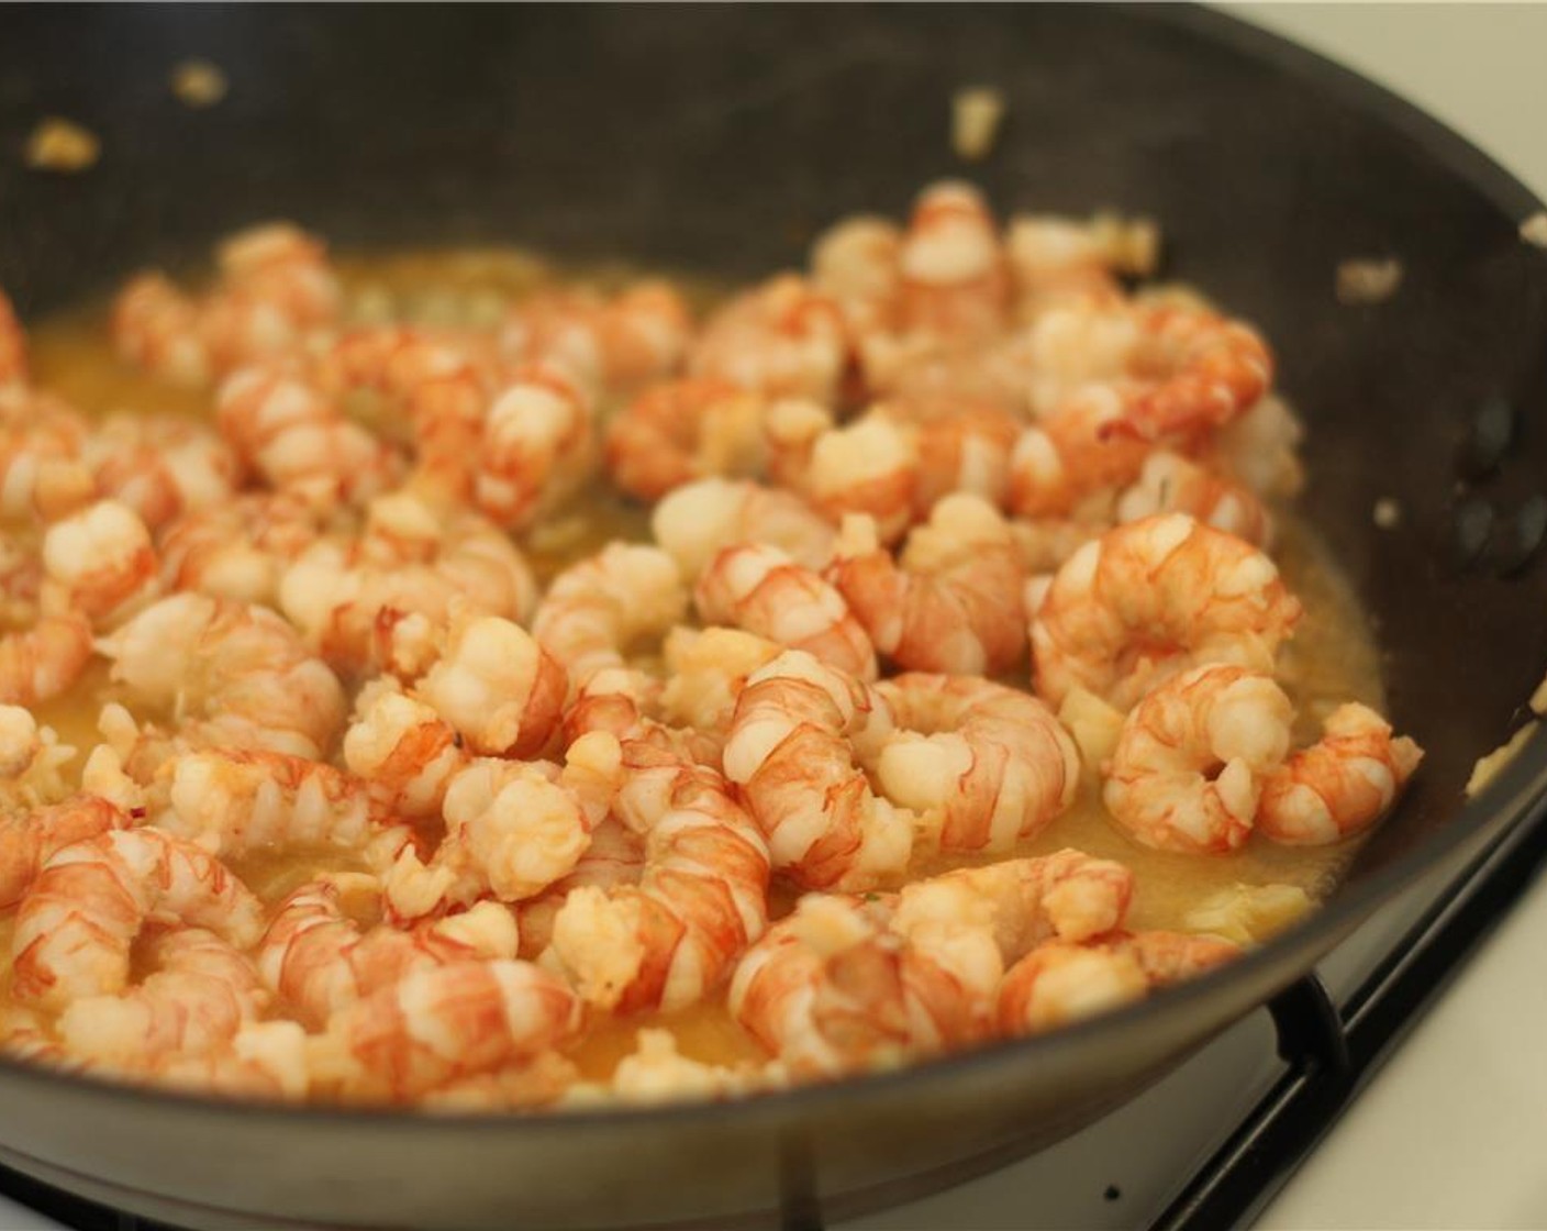
<svg viewBox="0 0 1547 1231">
<path fill-rule="evenodd" d="M 1081 794 L 1134 850 L 1346 842 L 1422 754 L 1352 701 L 1295 746 L 1298 427 L 1264 339 L 1153 266 L 1148 225 L 939 183 L 704 316 L 648 279 L 362 324 L 275 223 L 114 303 L 192 418 L 39 387 L 0 294 L 0 1050 L 729 1098 L 1228 962 L 1027 844 Z M 650 536 L 555 561 L 608 485 Z"/>
</svg>

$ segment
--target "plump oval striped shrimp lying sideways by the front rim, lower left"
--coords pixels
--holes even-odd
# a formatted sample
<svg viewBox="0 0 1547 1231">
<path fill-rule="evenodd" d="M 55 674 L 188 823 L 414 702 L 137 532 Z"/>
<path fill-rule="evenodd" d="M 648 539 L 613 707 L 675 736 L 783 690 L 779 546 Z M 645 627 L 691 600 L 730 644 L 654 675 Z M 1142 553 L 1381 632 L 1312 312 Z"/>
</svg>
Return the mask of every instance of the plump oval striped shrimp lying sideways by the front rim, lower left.
<svg viewBox="0 0 1547 1231">
<path fill-rule="evenodd" d="M 405 1102 L 531 1062 L 580 1031 L 580 1000 L 529 962 L 453 962 L 416 971 L 336 1013 L 314 1075 L 348 1098 Z"/>
</svg>

